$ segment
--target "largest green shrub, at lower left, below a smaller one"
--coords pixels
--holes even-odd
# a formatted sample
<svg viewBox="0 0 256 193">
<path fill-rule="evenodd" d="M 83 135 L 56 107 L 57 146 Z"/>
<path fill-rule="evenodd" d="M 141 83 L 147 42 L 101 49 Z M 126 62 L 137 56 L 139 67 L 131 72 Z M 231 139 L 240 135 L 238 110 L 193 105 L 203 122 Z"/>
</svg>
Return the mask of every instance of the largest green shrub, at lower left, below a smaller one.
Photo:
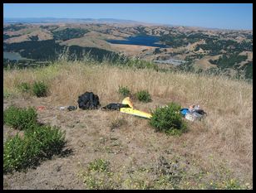
<svg viewBox="0 0 256 193">
<path fill-rule="evenodd" d="M 21 138 L 18 134 L 8 138 L 3 145 L 3 172 L 20 171 L 28 166 L 37 166 L 44 157 L 62 151 L 65 133 L 56 127 L 34 124 Z"/>
</svg>

